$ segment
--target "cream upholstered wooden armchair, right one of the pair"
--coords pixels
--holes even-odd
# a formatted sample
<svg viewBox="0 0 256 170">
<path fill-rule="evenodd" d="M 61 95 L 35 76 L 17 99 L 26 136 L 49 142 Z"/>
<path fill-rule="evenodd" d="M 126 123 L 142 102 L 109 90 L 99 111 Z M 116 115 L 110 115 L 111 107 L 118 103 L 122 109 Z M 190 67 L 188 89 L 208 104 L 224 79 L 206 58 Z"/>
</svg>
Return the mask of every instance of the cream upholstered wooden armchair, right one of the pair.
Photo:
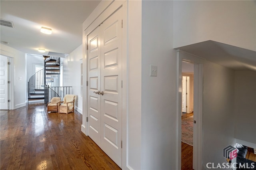
<svg viewBox="0 0 256 170">
<path fill-rule="evenodd" d="M 76 95 L 65 95 L 63 101 L 59 105 L 59 113 L 70 113 L 74 112 Z"/>
</svg>

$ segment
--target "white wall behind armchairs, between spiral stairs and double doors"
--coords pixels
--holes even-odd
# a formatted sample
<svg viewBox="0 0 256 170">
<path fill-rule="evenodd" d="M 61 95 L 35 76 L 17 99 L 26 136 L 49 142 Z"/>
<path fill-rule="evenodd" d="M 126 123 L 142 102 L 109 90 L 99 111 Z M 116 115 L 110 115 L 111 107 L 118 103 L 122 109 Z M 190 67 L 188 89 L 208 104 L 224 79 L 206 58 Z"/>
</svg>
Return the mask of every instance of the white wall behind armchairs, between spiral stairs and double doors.
<svg viewBox="0 0 256 170">
<path fill-rule="evenodd" d="M 76 95 L 75 109 L 82 114 L 81 97 L 81 63 L 82 44 L 74 49 L 63 63 L 63 86 L 72 86 L 72 92 Z"/>
</svg>

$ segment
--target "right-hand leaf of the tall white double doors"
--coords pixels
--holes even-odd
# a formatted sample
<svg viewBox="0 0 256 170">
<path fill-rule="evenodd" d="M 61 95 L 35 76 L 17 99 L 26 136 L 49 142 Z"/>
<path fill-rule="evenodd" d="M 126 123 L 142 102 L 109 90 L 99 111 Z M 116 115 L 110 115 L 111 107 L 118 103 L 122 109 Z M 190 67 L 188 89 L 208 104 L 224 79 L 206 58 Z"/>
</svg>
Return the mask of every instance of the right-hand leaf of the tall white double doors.
<svg viewBox="0 0 256 170">
<path fill-rule="evenodd" d="M 102 24 L 101 148 L 122 165 L 122 13 L 118 10 Z"/>
</svg>

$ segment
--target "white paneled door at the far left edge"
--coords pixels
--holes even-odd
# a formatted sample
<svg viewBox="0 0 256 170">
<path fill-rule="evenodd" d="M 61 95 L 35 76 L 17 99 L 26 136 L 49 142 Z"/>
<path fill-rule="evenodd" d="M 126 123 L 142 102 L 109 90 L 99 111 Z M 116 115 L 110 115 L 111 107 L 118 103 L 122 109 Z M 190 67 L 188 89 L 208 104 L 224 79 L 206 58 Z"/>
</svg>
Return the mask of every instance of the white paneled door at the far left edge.
<svg viewBox="0 0 256 170">
<path fill-rule="evenodd" d="M 0 55 L 0 109 L 8 110 L 8 57 Z"/>
</svg>

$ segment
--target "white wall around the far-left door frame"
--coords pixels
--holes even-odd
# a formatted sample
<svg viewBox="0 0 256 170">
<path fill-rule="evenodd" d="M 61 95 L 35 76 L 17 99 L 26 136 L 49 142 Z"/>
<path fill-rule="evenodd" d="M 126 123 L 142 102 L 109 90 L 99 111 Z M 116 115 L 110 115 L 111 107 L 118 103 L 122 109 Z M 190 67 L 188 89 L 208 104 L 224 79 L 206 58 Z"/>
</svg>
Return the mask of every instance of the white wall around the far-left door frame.
<svg viewBox="0 0 256 170">
<path fill-rule="evenodd" d="M 14 86 L 14 109 L 23 107 L 26 105 L 26 60 L 25 53 L 18 51 L 12 47 L 1 44 L 1 55 L 12 57 L 14 60 L 14 71 L 13 71 L 13 86 Z M 21 77 L 21 80 L 19 80 Z"/>
</svg>

